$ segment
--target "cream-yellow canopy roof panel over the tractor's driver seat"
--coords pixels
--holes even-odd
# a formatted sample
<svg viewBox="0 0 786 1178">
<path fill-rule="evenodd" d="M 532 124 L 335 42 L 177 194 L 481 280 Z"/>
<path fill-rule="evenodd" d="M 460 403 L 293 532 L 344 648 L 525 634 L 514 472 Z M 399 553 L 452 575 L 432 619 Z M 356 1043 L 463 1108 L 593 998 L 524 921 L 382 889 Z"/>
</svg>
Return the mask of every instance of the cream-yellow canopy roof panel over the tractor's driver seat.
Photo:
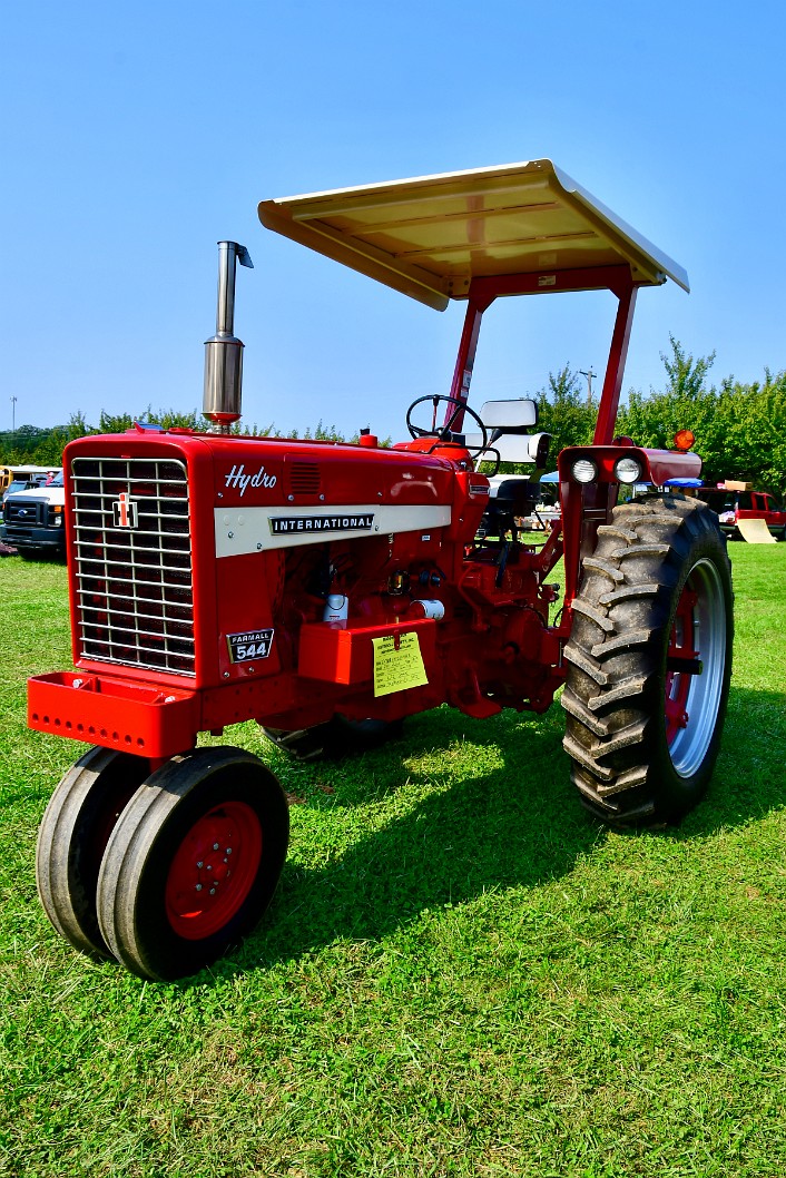
<svg viewBox="0 0 786 1178">
<path fill-rule="evenodd" d="M 440 311 L 473 278 L 621 263 L 636 283 L 689 289 L 676 262 L 548 159 L 263 200 L 259 219 Z"/>
</svg>

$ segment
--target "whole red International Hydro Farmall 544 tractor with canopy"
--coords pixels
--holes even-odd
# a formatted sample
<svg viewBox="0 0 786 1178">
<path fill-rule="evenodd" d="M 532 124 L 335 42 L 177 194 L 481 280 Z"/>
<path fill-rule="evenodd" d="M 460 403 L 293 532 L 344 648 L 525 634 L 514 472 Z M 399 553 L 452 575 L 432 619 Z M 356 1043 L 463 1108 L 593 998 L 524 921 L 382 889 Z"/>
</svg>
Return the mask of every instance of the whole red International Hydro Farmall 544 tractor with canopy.
<svg viewBox="0 0 786 1178">
<path fill-rule="evenodd" d="M 544 712 L 564 687 L 580 799 L 629 827 L 695 805 L 728 695 L 716 516 L 668 492 L 617 505 L 620 484 L 700 474 L 685 449 L 614 435 L 636 293 L 667 277 L 687 290 L 685 271 L 549 160 L 266 200 L 259 217 L 428 306 L 461 299 L 467 318 L 450 389 L 410 405 L 409 441 L 244 437 L 233 309 L 250 259 L 224 241 L 207 430 L 138 424 L 66 449 L 77 670 L 29 681 L 28 720 L 92 747 L 44 816 L 38 886 L 72 945 L 145 978 L 237 944 L 286 855 L 272 773 L 197 748 L 199 733 L 252 719 L 312 757 L 442 703 Z M 478 330 L 498 297 L 584 290 L 619 299 L 597 424 L 559 455 L 561 518 L 534 543 L 519 524 L 548 436 L 530 399 L 468 406 Z M 531 474 L 491 495 L 480 468 L 500 462 Z"/>
</svg>

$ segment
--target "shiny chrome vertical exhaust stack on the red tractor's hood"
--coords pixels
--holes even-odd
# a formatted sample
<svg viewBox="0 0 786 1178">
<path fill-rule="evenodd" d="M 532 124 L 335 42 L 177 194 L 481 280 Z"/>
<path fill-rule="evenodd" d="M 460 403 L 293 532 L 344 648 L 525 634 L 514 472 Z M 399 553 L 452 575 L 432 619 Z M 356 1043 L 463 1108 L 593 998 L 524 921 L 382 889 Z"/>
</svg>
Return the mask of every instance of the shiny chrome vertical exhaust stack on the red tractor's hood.
<svg viewBox="0 0 786 1178">
<path fill-rule="evenodd" d="M 240 417 L 243 340 L 235 336 L 236 262 L 253 270 L 244 245 L 219 241 L 216 335 L 205 340 L 205 395 L 202 412 L 222 434 L 229 434 L 232 423 Z"/>
</svg>

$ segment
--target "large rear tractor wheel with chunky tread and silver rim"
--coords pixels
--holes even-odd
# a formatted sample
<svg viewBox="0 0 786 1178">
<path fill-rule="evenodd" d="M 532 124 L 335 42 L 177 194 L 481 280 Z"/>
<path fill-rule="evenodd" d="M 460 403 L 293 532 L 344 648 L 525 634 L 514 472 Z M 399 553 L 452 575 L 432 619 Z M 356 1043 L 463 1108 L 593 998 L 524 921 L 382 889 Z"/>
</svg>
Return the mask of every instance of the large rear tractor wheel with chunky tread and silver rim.
<svg viewBox="0 0 786 1178">
<path fill-rule="evenodd" d="M 612 825 L 676 822 L 707 788 L 728 700 L 726 541 L 702 503 L 672 495 L 617 507 L 597 537 L 564 650 L 573 781 Z"/>
</svg>

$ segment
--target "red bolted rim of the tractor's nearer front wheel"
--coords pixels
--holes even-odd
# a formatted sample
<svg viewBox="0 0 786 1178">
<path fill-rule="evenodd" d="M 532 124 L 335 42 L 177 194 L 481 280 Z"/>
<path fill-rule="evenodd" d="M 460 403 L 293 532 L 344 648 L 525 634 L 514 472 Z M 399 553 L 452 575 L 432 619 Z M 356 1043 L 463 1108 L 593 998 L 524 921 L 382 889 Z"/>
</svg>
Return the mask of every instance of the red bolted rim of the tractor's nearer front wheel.
<svg viewBox="0 0 786 1178">
<path fill-rule="evenodd" d="M 191 827 L 166 880 L 166 915 L 185 940 L 212 937 L 240 909 L 262 861 L 262 826 L 245 802 L 223 802 Z"/>
</svg>

